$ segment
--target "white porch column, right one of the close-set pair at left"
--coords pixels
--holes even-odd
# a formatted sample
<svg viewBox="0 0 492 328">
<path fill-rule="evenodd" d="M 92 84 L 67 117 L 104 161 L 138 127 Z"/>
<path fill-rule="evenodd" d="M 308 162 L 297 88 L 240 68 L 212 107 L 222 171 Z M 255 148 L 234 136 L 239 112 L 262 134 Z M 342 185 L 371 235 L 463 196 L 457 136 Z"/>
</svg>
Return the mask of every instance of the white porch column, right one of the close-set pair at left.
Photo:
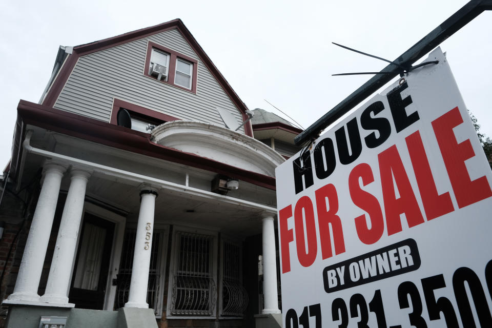
<svg viewBox="0 0 492 328">
<path fill-rule="evenodd" d="M 48 283 L 46 284 L 45 295 L 41 297 L 42 302 L 69 305 L 70 272 L 75 260 L 77 235 L 90 175 L 90 172 L 83 170 L 73 169 L 71 171 L 70 188 L 61 215 Z M 70 305 L 73 306 L 73 304 Z"/>
</svg>

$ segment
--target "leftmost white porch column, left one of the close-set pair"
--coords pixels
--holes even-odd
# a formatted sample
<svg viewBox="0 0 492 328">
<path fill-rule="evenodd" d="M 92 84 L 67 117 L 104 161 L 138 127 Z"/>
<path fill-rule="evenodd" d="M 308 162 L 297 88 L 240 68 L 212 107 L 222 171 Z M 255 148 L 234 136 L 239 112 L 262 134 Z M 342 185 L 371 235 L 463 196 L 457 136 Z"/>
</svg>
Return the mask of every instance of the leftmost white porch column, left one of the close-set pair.
<svg viewBox="0 0 492 328">
<path fill-rule="evenodd" d="M 37 289 L 50 239 L 61 178 L 65 170 L 65 167 L 54 163 L 47 163 L 43 168 L 43 186 L 41 187 L 36 210 L 32 218 L 14 292 L 5 303 L 15 304 L 39 301 Z"/>
</svg>

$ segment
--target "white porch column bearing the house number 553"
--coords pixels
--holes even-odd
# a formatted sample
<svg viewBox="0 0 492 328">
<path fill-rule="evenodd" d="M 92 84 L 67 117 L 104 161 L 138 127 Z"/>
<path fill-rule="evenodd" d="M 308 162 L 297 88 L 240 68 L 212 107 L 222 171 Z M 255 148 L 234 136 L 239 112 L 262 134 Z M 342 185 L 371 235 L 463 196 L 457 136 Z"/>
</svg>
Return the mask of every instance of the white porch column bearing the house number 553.
<svg viewBox="0 0 492 328">
<path fill-rule="evenodd" d="M 147 286 L 149 283 L 150 254 L 154 231 L 154 209 L 157 190 L 149 187 L 140 192 L 140 213 L 138 215 L 135 251 L 133 254 L 132 279 L 125 308 L 149 308 Z"/>
</svg>

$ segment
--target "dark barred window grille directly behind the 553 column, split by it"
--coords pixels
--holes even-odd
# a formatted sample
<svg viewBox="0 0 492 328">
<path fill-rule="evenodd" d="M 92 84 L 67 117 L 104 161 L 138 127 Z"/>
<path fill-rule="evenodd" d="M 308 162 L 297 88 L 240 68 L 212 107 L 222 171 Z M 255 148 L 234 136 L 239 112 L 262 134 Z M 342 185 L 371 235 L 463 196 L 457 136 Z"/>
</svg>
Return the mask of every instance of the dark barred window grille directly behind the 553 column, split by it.
<svg viewBox="0 0 492 328">
<path fill-rule="evenodd" d="M 130 281 L 132 278 L 133 252 L 135 249 L 136 230 L 127 230 L 121 251 L 121 261 L 117 278 L 115 308 L 122 308 L 128 301 Z M 162 316 L 162 298 L 166 268 L 167 230 L 154 230 L 152 252 L 150 256 L 149 284 L 147 303 L 154 309 L 155 316 Z"/>
</svg>

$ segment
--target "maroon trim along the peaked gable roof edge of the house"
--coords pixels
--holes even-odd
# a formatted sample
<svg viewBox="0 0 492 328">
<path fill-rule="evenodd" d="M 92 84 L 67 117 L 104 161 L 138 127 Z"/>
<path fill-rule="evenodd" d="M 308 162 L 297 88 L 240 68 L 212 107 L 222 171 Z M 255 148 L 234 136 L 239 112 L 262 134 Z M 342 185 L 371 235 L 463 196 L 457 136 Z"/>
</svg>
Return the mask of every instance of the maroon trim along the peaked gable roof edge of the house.
<svg viewBox="0 0 492 328">
<path fill-rule="evenodd" d="M 224 92 L 231 98 L 232 102 L 234 105 L 239 109 L 241 112 L 243 120 L 248 119 L 248 115 L 246 114 L 246 111 L 248 110 L 248 107 L 242 102 L 242 100 L 239 98 L 239 96 L 236 94 L 236 92 L 232 89 L 232 87 L 229 85 L 227 82 L 226 78 L 223 77 L 223 75 L 219 72 L 217 67 L 212 63 L 212 60 L 209 58 L 209 56 L 203 51 L 203 49 L 200 47 L 198 44 L 197 40 L 193 37 L 191 32 L 188 30 L 188 28 L 183 24 L 181 19 L 174 19 L 171 20 L 170 22 L 162 23 L 159 25 L 151 26 L 148 28 L 136 30 L 133 32 L 117 35 L 114 37 L 110 37 L 107 39 L 95 41 L 92 43 L 88 43 L 85 45 L 80 45 L 73 47 L 72 53 L 68 56 L 68 58 L 65 60 L 65 63 L 61 68 L 57 68 L 57 65 L 55 63 L 55 69 L 53 71 L 52 76 L 56 75 L 56 78 L 54 78 L 53 81 L 50 79 L 50 84 L 48 86 L 48 92 L 46 96 L 43 99 L 42 105 L 48 106 L 48 107 L 53 107 L 56 99 L 58 98 L 61 90 L 65 86 L 65 83 L 67 82 L 73 68 L 75 67 L 75 64 L 77 63 L 77 60 L 79 57 L 88 55 L 97 51 L 105 50 L 108 48 L 112 48 L 121 44 L 125 44 L 128 42 L 131 42 L 133 40 L 141 39 L 150 35 L 154 35 L 157 33 L 161 33 L 167 30 L 171 29 L 177 29 L 182 36 L 186 39 L 190 47 L 195 51 L 197 56 L 201 59 L 203 64 L 209 69 L 211 74 L 215 77 L 217 80 L 217 83 L 222 87 Z M 60 57 L 60 60 L 63 60 L 63 57 Z M 58 58 L 57 58 L 58 61 Z M 250 124 L 246 124 L 244 127 L 244 132 L 248 136 L 253 136 L 253 131 L 251 128 Z"/>
</svg>

